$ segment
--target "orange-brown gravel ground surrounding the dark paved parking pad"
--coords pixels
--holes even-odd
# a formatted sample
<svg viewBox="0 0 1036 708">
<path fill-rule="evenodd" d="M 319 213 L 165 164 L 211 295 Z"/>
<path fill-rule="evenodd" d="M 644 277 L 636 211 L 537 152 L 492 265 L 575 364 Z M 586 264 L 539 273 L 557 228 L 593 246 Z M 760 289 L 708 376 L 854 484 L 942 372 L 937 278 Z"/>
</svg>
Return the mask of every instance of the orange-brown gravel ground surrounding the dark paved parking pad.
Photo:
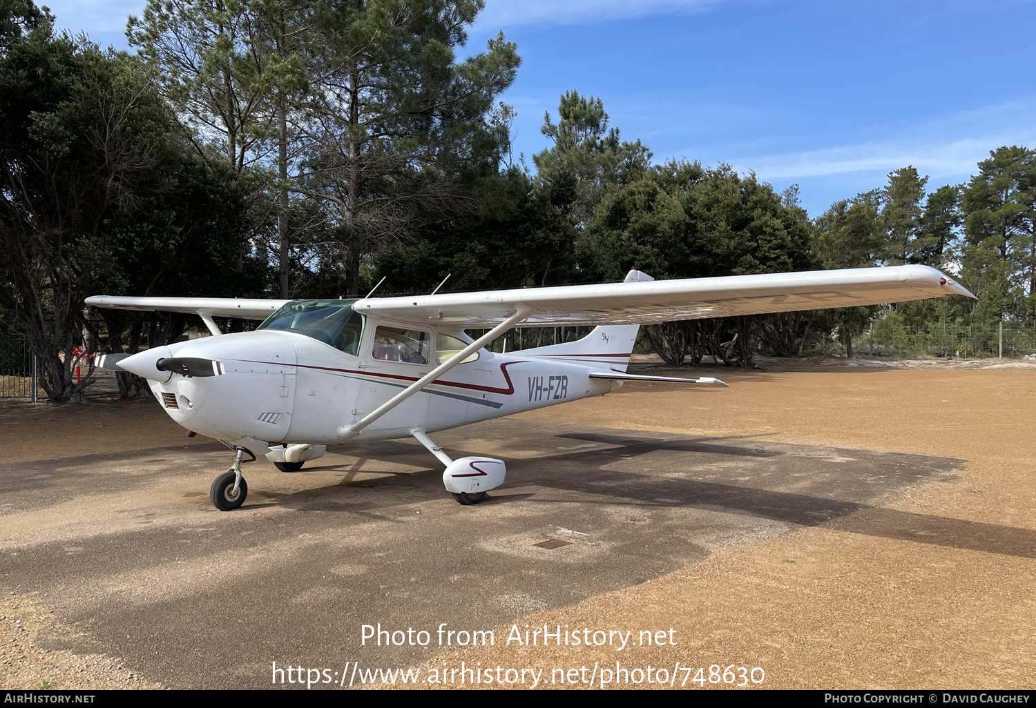
<svg viewBox="0 0 1036 708">
<path fill-rule="evenodd" d="M 710 665 L 759 667 L 764 687 L 1031 688 L 1036 366 L 845 363 L 769 361 L 760 371 L 710 370 L 702 373 L 731 388 L 692 396 L 674 385 L 628 384 L 601 399 L 521 417 L 960 459 L 966 465 L 955 481 L 910 488 L 889 507 L 916 514 L 901 518 L 938 522 L 945 542 L 909 540 L 911 533 L 933 533 L 920 522 L 887 535 L 861 533 L 859 522 L 853 531 L 837 523 L 804 527 L 714 549 L 707 560 L 677 572 L 514 623 L 671 628 L 675 646 L 628 647 L 618 658 L 630 667 L 680 661 L 704 667 L 707 675 Z M 0 408 L 0 449 L 8 461 L 179 445 L 189 442 L 183 436 L 150 400 Z M 970 534 L 979 524 L 999 531 L 976 542 Z M 961 548 L 954 548 L 954 534 Z M 4 687 L 44 681 L 86 687 L 106 679 L 109 686 L 140 686 L 147 679 L 118 657 L 39 654 L 31 638 L 46 610 L 28 599 L 8 598 L 0 614 Z M 507 637 L 509 629 L 497 635 Z M 557 667 L 613 665 L 616 653 L 498 642 L 492 649 L 437 655 L 426 667 L 461 660 L 549 674 Z"/>
</svg>

